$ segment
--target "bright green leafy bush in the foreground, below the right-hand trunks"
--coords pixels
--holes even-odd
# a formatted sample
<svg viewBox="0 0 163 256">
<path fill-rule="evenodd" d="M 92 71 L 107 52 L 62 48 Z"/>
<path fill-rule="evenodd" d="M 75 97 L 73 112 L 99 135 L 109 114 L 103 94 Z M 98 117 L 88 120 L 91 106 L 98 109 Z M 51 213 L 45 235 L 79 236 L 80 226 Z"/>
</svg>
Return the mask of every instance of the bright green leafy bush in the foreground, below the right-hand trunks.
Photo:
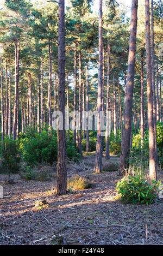
<svg viewBox="0 0 163 256">
<path fill-rule="evenodd" d="M 159 190 L 159 182 L 149 183 L 142 175 L 128 176 L 117 183 L 116 190 L 124 203 L 152 204 Z"/>
</svg>

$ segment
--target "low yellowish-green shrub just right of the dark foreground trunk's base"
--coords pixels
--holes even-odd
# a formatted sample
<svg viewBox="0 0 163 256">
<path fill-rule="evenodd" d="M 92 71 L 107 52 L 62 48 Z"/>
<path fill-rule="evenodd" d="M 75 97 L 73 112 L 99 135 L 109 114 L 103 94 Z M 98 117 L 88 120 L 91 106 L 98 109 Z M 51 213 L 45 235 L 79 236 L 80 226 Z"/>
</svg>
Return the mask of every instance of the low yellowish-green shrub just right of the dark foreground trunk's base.
<svg viewBox="0 0 163 256">
<path fill-rule="evenodd" d="M 86 178 L 83 178 L 82 176 L 79 175 L 75 175 L 73 178 L 68 178 L 67 187 L 71 192 L 72 189 L 91 188 L 92 184 L 89 183 L 89 181 L 87 181 Z"/>
</svg>

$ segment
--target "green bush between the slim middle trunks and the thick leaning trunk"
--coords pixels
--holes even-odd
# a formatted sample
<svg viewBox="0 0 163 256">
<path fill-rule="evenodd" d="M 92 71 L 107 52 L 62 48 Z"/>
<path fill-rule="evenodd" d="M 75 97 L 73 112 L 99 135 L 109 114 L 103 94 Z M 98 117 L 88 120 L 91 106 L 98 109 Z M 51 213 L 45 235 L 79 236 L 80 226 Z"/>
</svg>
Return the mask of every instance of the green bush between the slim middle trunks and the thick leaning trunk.
<svg viewBox="0 0 163 256">
<path fill-rule="evenodd" d="M 114 132 L 109 136 L 109 149 L 111 154 L 118 154 L 121 152 L 121 132 L 118 130 L 116 136 Z"/>
</svg>

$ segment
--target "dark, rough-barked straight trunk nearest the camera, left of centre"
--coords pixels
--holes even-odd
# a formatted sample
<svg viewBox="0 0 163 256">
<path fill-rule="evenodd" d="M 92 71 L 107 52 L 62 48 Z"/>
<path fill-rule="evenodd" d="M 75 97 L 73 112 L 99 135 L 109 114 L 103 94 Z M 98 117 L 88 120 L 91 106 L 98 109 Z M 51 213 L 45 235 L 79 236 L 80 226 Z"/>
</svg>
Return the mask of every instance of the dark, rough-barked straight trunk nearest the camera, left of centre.
<svg viewBox="0 0 163 256">
<path fill-rule="evenodd" d="M 65 132 L 65 1 L 59 0 L 58 9 L 58 110 L 62 112 L 63 129 L 58 129 L 58 170 L 57 193 L 65 194 L 66 173 L 66 132 Z"/>
</svg>

